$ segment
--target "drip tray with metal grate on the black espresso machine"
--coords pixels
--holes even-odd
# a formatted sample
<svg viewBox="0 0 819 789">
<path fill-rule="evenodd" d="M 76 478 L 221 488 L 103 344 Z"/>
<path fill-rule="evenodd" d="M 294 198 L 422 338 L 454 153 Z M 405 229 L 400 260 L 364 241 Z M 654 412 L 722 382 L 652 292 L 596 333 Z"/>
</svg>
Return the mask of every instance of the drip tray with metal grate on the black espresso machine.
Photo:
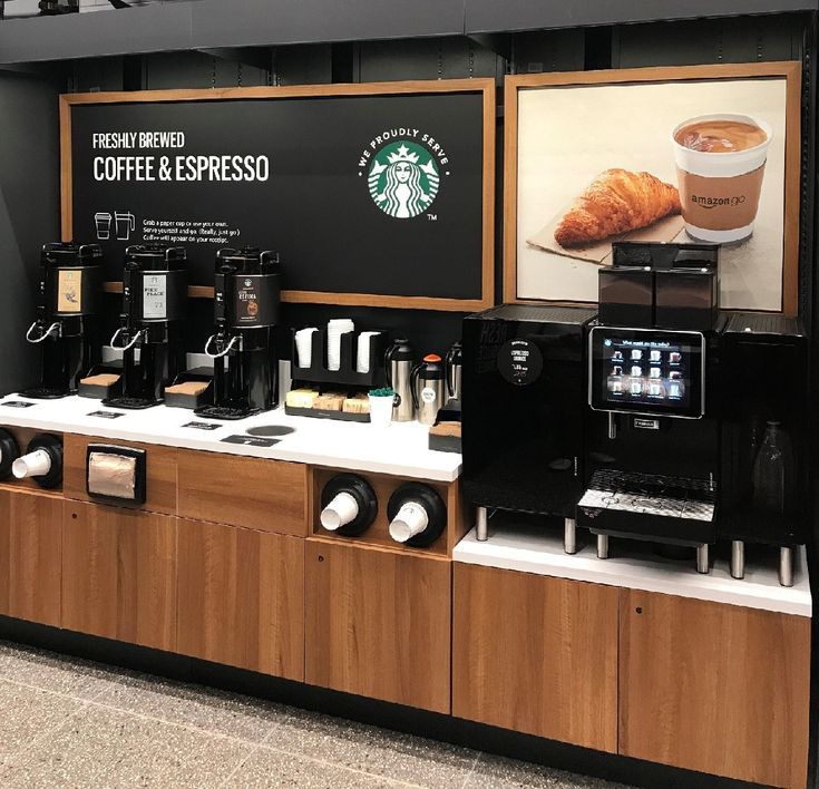
<svg viewBox="0 0 819 789">
<path fill-rule="evenodd" d="M 702 479 L 597 470 L 577 505 L 597 534 L 700 545 L 714 540 L 716 493 Z"/>
</svg>

